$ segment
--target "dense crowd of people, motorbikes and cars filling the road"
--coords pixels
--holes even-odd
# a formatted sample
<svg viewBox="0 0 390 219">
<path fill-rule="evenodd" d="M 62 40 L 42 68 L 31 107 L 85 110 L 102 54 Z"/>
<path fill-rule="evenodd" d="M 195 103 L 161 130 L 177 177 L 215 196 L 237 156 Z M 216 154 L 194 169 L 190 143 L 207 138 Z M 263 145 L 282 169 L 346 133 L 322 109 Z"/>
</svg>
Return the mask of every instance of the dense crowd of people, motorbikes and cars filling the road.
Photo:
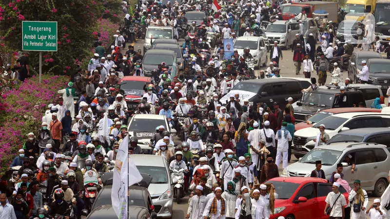
<svg viewBox="0 0 390 219">
<path fill-rule="evenodd" d="M 363 5 L 379 31 L 388 3 Z M 123 1 L 114 42 L 18 146 L 0 218 L 390 219 L 390 36 L 359 10 Z"/>
</svg>

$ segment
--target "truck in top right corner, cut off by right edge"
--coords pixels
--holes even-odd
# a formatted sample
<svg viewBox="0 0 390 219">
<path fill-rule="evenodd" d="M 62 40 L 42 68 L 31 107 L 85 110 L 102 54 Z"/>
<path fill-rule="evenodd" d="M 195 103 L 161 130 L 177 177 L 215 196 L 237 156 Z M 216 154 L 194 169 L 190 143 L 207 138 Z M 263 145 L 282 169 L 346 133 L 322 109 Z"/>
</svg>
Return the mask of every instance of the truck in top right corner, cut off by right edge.
<svg viewBox="0 0 390 219">
<path fill-rule="evenodd" d="M 375 4 L 374 18 L 375 18 L 375 36 L 383 44 L 390 42 L 390 0 L 377 0 Z"/>
</svg>

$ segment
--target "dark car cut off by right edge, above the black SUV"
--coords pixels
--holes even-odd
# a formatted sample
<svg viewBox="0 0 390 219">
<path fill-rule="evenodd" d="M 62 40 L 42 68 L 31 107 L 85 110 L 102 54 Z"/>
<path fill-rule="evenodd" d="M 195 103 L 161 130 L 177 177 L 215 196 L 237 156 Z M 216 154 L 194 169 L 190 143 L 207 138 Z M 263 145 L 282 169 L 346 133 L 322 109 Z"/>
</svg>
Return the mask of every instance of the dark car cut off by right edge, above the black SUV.
<svg viewBox="0 0 390 219">
<path fill-rule="evenodd" d="M 380 85 L 382 92 L 386 93 L 390 86 L 390 60 L 370 58 L 367 67 L 370 73 L 369 84 Z"/>
</svg>

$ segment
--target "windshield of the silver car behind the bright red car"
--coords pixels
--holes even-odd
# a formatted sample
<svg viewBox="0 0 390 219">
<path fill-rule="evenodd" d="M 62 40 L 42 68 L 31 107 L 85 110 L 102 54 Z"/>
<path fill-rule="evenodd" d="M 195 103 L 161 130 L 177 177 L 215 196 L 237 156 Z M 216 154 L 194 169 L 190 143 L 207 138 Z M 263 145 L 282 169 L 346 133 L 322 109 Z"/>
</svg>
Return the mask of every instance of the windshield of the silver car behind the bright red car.
<svg viewBox="0 0 390 219">
<path fill-rule="evenodd" d="M 316 161 L 321 161 L 322 165 L 333 165 L 341 156 L 343 151 L 329 150 L 322 148 L 314 148 L 309 151 L 299 162 L 315 164 Z"/>
</svg>

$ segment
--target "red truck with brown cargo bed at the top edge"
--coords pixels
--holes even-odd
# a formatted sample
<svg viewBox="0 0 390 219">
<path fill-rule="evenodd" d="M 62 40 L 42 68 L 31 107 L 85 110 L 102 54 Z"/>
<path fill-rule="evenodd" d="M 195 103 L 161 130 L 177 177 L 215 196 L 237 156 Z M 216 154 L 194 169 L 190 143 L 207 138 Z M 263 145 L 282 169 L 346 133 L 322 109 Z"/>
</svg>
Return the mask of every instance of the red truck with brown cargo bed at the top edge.
<svg viewBox="0 0 390 219">
<path fill-rule="evenodd" d="M 306 11 L 308 18 L 315 16 L 312 13 L 315 10 L 325 10 L 329 13 L 328 19 L 337 23 L 337 10 L 338 3 L 332 1 L 306 1 L 304 4 L 299 3 L 285 3 L 281 5 L 283 20 L 289 20 L 301 13 L 303 10 Z"/>
</svg>

